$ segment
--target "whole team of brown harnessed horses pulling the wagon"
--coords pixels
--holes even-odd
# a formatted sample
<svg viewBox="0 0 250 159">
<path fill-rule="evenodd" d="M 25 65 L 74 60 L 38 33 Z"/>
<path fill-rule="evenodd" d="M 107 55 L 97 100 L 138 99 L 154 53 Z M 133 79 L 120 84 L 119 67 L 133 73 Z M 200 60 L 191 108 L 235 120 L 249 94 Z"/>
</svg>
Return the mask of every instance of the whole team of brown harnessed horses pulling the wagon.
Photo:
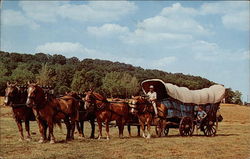
<svg viewBox="0 0 250 159">
<path fill-rule="evenodd" d="M 111 121 L 116 121 L 119 137 L 122 138 L 124 126 L 131 116 L 138 118 L 143 131 L 142 136 L 150 138 L 150 126 L 155 120 L 152 104 L 142 96 L 132 97 L 129 101 L 108 101 L 101 94 L 90 90 L 85 92 L 83 100 L 74 92 L 56 98 L 47 94 L 38 83 L 28 83 L 27 88 L 21 88 L 16 83 L 7 83 L 4 104 L 12 107 L 21 136 L 20 140 L 24 140 L 22 121 L 25 122 L 27 140 L 31 139 L 29 121 L 37 121 L 41 135 L 40 143 L 46 141 L 55 143 L 53 128 L 55 125 L 61 127 L 62 120 L 67 128 L 66 141 L 74 139 L 75 126 L 80 137 L 84 137 L 84 121 L 90 121 L 92 128 L 90 137 L 94 138 L 95 120 L 99 128 L 98 139 L 102 138 L 103 124 L 106 128 L 106 138 L 110 139 L 109 124 Z M 157 103 L 157 107 L 157 121 L 160 122 L 161 119 L 166 118 L 167 110 L 160 103 Z M 147 125 L 147 134 L 145 125 Z M 130 127 L 128 128 L 130 130 Z"/>
</svg>

